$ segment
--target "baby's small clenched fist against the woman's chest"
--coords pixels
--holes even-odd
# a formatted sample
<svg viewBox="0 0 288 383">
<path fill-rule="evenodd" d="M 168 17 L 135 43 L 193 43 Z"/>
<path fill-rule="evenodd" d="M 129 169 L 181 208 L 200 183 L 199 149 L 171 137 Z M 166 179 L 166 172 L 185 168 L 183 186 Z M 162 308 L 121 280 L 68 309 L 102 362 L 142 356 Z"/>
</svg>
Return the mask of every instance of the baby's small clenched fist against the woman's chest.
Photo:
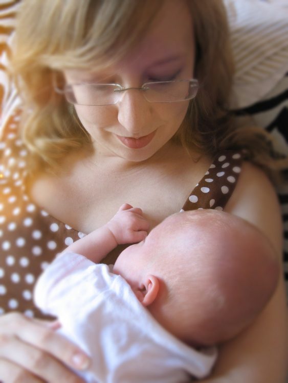
<svg viewBox="0 0 288 383">
<path fill-rule="evenodd" d="M 107 223 L 107 227 L 113 233 L 118 245 L 131 244 L 144 240 L 149 223 L 143 217 L 143 212 L 139 207 L 125 203 Z"/>
</svg>

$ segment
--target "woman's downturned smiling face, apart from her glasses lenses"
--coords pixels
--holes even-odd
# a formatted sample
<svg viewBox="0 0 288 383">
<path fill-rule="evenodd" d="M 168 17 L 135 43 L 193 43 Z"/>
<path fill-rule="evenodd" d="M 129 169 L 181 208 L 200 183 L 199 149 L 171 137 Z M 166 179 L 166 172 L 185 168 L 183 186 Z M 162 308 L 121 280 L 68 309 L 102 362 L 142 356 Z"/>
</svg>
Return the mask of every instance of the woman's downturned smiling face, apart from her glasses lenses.
<svg viewBox="0 0 288 383">
<path fill-rule="evenodd" d="M 193 78 L 194 40 L 186 2 L 166 0 L 143 40 L 117 64 L 86 73 L 65 70 L 68 83 L 118 83 L 125 88 L 145 82 Z M 139 90 L 121 94 L 115 105 L 80 106 L 78 117 L 97 153 L 144 161 L 178 131 L 189 101 L 149 103 Z"/>
</svg>

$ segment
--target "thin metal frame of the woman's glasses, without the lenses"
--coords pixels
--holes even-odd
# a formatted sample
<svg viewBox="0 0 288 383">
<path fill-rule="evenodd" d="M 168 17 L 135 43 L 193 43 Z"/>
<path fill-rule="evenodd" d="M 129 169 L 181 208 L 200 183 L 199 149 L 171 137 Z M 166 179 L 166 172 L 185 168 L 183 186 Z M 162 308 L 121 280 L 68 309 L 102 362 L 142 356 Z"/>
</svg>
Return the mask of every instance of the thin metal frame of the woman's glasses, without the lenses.
<svg viewBox="0 0 288 383">
<path fill-rule="evenodd" d="M 194 85 L 193 87 L 195 87 L 197 90 L 195 92 L 194 95 L 191 95 L 191 97 L 189 98 L 186 98 L 186 99 L 181 99 L 181 100 L 173 100 L 173 101 L 150 101 L 149 99 L 147 99 L 145 97 L 145 94 L 144 95 L 144 98 L 147 102 L 149 103 L 156 103 L 156 104 L 170 104 L 170 103 L 174 103 L 174 102 L 183 102 L 183 101 L 188 101 L 188 100 L 192 100 L 196 97 L 196 94 L 197 94 L 197 91 L 198 91 L 198 88 L 199 88 L 199 83 L 198 83 L 198 80 L 197 79 L 184 79 L 184 80 L 170 80 L 170 81 L 150 81 L 150 82 L 145 82 L 140 88 L 138 87 L 128 87 L 128 88 L 124 88 L 121 84 L 117 84 L 117 83 L 90 83 L 90 82 L 85 82 L 85 83 L 69 83 L 69 84 L 65 84 L 63 86 L 63 88 L 59 88 L 56 84 L 56 79 L 53 78 L 53 86 L 54 86 L 54 90 L 56 93 L 59 93 L 59 94 L 63 94 L 65 99 L 67 100 L 68 103 L 70 104 L 73 104 L 73 105 L 80 105 L 80 106 L 107 106 L 107 105 L 116 105 L 119 100 L 120 100 L 120 97 L 119 99 L 114 102 L 114 103 L 108 103 L 108 104 L 100 104 L 100 105 L 97 105 L 97 104 L 78 104 L 78 103 L 75 103 L 75 102 L 72 102 L 71 100 L 68 99 L 68 96 L 67 96 L 67 89 L 69 88 L 72 88 L 73 86 L 77 86 L 77 85 L 111 85 L 111 86 L 115 86 L 117 87 L 118 89 L 114 89 L 115 92 L 124 92 L 126 90 L 140 90 L 140 91 L 147 91 L 149 90 L 149 85 L 150 84 L 172 84 L 172 83 L 181 83 L 181 82 L 189 82 L 189 83 L 192 83 L 192 85 Z M 191 86 L 191 84 L 189 85 Z"/>
</svg>

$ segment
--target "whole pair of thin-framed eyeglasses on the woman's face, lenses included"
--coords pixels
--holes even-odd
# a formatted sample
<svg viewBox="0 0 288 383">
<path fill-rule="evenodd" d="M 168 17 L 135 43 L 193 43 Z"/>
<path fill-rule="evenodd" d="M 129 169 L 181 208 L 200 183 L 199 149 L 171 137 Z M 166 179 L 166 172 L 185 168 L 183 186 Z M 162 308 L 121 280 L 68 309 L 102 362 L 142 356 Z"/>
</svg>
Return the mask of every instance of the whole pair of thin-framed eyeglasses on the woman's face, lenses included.
<svg viewBox="0 0 288 383">
<path fill-rule="evenodd" d="M 141 88 L 124 88 L 120 84 L 66 84 L 63 89 L 55 86 L 55 91 L 65 95 L 74 105 L 113 105 L 117 104 L 126 90 L 141 90 L 150 103 L 173 103 L 193 99 L 198 91 L 198 80 L 177 80 L 146 82 Z"/>
</svg>

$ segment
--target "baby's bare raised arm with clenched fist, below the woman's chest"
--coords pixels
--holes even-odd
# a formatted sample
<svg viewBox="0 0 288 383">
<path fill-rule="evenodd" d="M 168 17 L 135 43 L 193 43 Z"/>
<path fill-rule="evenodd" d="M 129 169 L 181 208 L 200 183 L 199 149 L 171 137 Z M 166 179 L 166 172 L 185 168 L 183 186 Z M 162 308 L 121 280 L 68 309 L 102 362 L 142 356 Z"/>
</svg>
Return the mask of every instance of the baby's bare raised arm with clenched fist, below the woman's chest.
<svg viewBox="0 0 288 383">
<path fill-rule="evenodd" d="M 107 224 L 74 242 L 63 252 L 78 253 L 99 263 L 118 245 L 144 240 L 148 229 L 149 223 L 142 210 L 123 204 Z"/>
</svg>

